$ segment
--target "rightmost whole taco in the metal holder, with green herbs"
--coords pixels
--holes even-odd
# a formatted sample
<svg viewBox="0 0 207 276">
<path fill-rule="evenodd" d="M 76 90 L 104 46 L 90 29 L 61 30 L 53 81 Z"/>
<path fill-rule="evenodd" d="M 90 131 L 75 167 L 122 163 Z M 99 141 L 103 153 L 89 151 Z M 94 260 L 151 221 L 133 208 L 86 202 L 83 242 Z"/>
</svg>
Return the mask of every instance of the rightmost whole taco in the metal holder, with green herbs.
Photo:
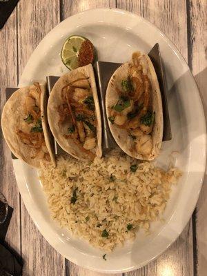
<svg viewBox="0 0 207 276">
<path fill-rule="evenodd" d="M 163 135 L 161 93 L 148 55 L 132 60 L 112 75 L 106 91 L 108 124 L 119 147 L 131 157 L 152 160 Z"/>
</svg>

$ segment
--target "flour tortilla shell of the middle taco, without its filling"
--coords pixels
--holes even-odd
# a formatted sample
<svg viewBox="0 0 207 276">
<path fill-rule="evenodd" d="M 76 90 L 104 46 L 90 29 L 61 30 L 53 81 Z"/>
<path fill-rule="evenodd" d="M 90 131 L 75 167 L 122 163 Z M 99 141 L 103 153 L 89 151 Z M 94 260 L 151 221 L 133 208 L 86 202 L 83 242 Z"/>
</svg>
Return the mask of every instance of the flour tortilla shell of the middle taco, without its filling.
<svg viewBox="0 0 207 276">
<path fill-rule="evenodd" d="M 88 154 L 80 150 L 79 146 L 75 143 L 72 138 L 65 138 L 63 135 L 67 133 L 67 126 L 59 126 L 59 112 L 58 108 L 63 103 L 61 98 L 61 89 L 63 86 L 66 86 L 68 83 L 75 81 L 76 79 L 87 77 L 91 86 L 92 96 L 95 101 L 95 115 L 97 117 L 97 148 L 96 155 L 101 157 L 101 113 L 99 108 L 99 99 L 97 95 L 97 88 L 95 83 L 95 76 L 93 72 L 92 65 L 79 67 L 75 70 L 72 70 L 66 75 L 63 75 L 55 83 L 55 86 L 52 88 L 48 100 L 48 122 L 50 125 L 50 130 L 52 135 L 55 137 L 57 143 L 63 150 L 68 152 L 70 155 L 77 159 L 88 159 Z"/>
</svg>

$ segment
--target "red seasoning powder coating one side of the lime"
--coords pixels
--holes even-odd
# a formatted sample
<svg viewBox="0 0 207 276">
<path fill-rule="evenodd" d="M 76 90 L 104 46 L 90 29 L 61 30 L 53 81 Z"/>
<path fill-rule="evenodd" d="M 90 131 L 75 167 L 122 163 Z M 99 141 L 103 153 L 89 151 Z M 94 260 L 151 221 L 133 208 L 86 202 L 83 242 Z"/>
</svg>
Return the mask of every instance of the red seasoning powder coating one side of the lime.
<svg viewBox="0 0 207 276">
<path fill-rule="evenodd" d="M 87 39 L 83 41 L 81 44 L 81 48 L 79 50 L 78 64 L 79 66 L 86 66 L 92 63 L 95 57 L 95 50 L 92 43 Z"/>
</svg>

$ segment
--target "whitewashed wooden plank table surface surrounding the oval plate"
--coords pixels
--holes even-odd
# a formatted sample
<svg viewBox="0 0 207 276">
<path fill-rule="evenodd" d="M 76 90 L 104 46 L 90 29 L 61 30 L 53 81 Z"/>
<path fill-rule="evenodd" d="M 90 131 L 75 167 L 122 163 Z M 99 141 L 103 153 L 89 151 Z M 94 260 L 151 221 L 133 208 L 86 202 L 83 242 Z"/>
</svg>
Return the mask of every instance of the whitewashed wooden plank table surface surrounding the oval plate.
<svg viewBox="0 0 207 276">
<path fill-rule="evenodd" d="M 206 0 L 20 0 L 0 30 L 1 109 L 5 88 L 17 86 L 34 48 L 52 28 L 77 12 L 110 7 L 139 14 L 175 43 L 195 76 L 207 111 L 206 3 Z M 2 136 L 0 150 L 0 190 L 14 208 L 6 240 L 24 259 L 23 276 L 100 275 L 68 262 L 41 236 L 19 195 L 10 150 Z M 193 217 L 177 241 L 148 266 L 124 275 L 207 275 L 206 212 L 207 177 Z"/>
</svg>

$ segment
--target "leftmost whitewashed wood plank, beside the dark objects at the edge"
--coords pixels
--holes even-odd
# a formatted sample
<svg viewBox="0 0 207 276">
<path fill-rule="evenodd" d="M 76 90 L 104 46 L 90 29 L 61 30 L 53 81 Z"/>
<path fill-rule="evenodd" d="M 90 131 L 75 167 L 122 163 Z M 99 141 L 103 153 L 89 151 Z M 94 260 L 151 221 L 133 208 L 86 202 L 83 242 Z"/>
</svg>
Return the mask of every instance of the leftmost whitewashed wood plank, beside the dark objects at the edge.
<svg viewBox="0 0 207 276">
<path fill-rule="evenodd" d="M 0 30 L 0 103 L 1 112 L 6 102 L 5 88 L 17 86 L 17 10 L 14 9 L 6 25 Z M 9 119 L 9 118 L 8 118 Z M 6 241 L 21 253 L 19 190 L 14 177 L 11 153 L 0 138 L 0 190 L 6 196 L 8 204 L 14 208 Z"/>
</svg>

